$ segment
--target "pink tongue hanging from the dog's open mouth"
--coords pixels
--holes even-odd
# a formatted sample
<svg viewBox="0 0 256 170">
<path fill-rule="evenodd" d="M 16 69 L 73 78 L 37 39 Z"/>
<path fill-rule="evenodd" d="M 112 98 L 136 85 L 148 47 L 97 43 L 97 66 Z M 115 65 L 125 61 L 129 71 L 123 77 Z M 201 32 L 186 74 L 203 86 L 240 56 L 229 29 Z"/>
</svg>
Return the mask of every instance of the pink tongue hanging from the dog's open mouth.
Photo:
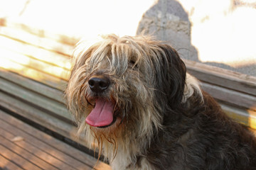
<svg viewBox="0 0 256 170">
<path fill-rule="evenodd" d="M 99 98 L 95 101 L 95 108 L 87 116 L 85 122 L 95 127 L 110 125 L 113 121 L 113 113 L 113 103 Z"/>
</svg>

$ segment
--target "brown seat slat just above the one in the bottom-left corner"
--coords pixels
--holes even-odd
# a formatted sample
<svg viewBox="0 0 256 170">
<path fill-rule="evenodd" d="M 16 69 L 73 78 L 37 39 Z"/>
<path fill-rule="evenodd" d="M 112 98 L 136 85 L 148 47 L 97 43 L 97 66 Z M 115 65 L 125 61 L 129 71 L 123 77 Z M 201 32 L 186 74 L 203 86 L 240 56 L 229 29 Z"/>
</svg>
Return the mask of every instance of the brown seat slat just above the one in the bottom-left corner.
<svg viewBox="0 0 256 170">
<path fill-rule="evenodd" d="M 22 169 L 34 169 L 34 170 L 40 170 L 40 168 L 34 164 L 31 164 L 31 162 L 28 162 L 28 160 L 23 159 L 23 157 L 19 156 L 18 154 L 12 152 L 10 149 L 4 147 L 3 145 L 0 145 L 1 155 L 3 157 L 6 157 L 6 159 L 10 159 L 18 166 L 21 166 Z"/>
</svg>

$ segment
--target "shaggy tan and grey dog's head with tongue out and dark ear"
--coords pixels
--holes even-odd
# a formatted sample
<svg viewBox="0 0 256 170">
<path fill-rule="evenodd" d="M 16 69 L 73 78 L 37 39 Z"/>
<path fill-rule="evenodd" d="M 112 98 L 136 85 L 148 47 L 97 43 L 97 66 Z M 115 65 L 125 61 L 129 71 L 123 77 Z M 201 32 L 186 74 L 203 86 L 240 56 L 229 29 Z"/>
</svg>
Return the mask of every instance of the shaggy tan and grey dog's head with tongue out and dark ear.
<svg viewBox="0 0 256 170">
<path fill-rule="evenodd" d="M 161 128 L 164 110 L 181 103 L 186 67 L 169 45 L 107 35 L 85 48 L 75 51 L 66 90 L 80 131 L 149 136 Z"/>
</svg>

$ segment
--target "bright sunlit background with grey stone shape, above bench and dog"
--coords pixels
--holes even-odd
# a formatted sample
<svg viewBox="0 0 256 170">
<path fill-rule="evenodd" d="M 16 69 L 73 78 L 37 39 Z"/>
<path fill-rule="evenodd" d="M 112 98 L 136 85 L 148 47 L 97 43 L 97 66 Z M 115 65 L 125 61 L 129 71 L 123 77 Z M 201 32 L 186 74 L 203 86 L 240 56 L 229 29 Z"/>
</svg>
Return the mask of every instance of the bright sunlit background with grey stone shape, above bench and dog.
<svg viewBox="0 0 256 170">
<path fill-rule="evenodd" d="M 105 33 L 144 33 L 185 59 L 256 76 L 255 0 L 9 0 L 0 1 L 0 18 L 1 39 L 27 42 L 29 33 L 73 46 Z"/>
</svg>

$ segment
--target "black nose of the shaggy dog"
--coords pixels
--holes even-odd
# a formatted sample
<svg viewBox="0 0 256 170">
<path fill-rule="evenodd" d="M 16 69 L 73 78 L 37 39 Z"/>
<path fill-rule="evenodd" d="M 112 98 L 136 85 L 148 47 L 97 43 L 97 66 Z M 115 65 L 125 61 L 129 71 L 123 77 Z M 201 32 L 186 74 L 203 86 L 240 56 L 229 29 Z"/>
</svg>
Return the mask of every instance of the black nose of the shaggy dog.
<svg viewBox="0 0 256 170">
<path fill-rule="evenodd" d="M 110 79 L 103 76 L 94 76 L 89 79 L 88 84 L 93 92 L 102 93 L 110 86 Z"/>
</svg>

